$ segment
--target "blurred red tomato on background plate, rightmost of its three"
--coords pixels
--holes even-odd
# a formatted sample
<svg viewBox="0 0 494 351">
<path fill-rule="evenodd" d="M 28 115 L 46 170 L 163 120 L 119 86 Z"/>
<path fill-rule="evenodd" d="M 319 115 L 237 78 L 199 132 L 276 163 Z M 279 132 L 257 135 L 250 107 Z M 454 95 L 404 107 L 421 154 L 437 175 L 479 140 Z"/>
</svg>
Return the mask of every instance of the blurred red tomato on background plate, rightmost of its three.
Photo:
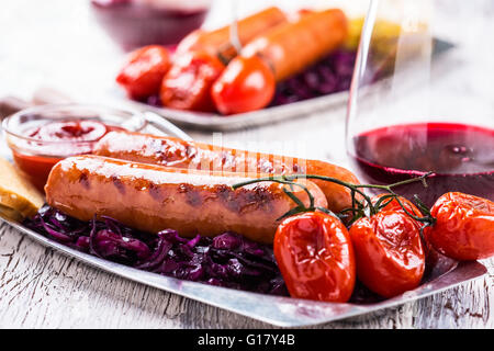
<svg viewBox="0 0 494 351">
<path fill-rule="evenodd" d="M 213 84 L 211 94 L 221 113 L 234 114 L 267 106 L 274 89 L 274 75 L 260 57 L 237 56 Z"/>
</svg>

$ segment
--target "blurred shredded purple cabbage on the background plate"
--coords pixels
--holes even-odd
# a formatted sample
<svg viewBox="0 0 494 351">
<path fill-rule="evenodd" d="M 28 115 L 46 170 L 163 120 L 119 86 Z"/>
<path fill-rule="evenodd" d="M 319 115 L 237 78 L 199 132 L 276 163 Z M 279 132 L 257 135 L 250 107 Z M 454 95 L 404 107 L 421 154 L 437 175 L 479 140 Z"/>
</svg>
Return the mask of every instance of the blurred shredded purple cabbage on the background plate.
<svg viewBox="0 0 494 351">
<path fill-rule="evenodd" d="M 279 106 L 348 90 L 356 57 L 356 52 L 332 53 L 303 72 L 278 83 L 270 105 Z M 142 102 L 151 106 L 161 106 L 159 95 L 150 95 Z"/>
</svg>

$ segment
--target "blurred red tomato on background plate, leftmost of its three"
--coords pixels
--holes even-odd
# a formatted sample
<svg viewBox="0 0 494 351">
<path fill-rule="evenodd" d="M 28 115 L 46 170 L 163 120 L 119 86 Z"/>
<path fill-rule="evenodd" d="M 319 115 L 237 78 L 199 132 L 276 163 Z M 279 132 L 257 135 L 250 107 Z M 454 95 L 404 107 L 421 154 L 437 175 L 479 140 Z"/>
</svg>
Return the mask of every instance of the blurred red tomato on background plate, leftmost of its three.
<svg viewBox="0 0 494 351">
<path fill-rule="evenodd" d="M 170 68 L 168 50 L 149 45 L 131 53 L 116 81 L 132 99 L 144 99 L 159 93 L 162 77 Z"/>
</svg>

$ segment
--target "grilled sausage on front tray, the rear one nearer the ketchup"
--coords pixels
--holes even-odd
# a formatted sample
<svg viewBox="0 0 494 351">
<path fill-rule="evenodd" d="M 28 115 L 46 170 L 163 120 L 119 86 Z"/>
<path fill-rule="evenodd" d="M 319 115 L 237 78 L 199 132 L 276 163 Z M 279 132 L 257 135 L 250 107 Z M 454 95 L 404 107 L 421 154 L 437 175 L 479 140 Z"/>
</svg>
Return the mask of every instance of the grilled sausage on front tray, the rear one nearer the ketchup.
<svg viewBox="0 0 494 351">
<path fill-rule="evenodd" d="M 98 143 L 94 154 L 167 167 L 238 172 L 249 177 L 259 177 L 261 173 L 305 173 L 359 183 L 349 170 L 324 161 L 222 148 L 139 133 L 111 132 Z M 332 211 L 340 212 L 351 206 L 348 189 L 326 181 L 313 181 L 326 195 Z"/>
</svg>

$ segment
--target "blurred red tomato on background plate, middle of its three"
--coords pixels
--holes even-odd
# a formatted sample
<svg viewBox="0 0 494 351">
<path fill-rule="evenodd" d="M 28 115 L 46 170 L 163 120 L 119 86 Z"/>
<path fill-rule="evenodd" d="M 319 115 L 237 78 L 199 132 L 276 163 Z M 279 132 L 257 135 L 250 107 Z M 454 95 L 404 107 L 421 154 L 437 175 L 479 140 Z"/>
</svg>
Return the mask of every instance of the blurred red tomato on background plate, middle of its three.
<svg viewBox="0 0 494 351">
<path fill-rule="evenodd" d="M 165 106 L 190 111 L 215 111 L 211 87 L 225 66 L 205 52 L 179 55 L 161 83 L 161 103 Z"/>
</svg>

